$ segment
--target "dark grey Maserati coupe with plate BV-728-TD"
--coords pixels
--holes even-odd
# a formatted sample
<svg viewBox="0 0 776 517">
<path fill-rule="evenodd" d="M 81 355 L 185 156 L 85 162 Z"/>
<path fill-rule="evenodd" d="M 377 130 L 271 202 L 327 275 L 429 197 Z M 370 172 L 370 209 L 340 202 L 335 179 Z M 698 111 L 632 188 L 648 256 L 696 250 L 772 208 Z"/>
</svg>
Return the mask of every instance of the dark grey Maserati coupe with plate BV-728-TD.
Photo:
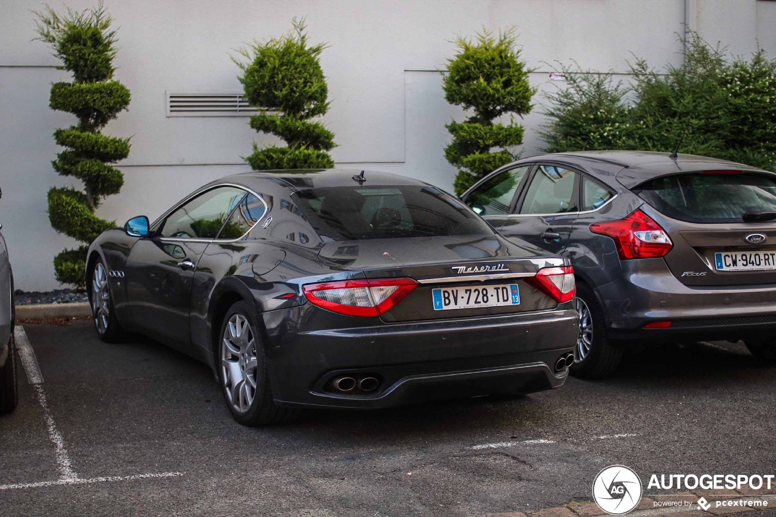
<svg viewBox="0 0 776 517">
<path fill-rule="evenodd" d="M 213 181 L 102 233 L 86 274 L 103 339 L 134 331 L 209 364 L 246 425 L 556 388 L 577 343 L 568 259 L 376 171 Z"/>
</svg>

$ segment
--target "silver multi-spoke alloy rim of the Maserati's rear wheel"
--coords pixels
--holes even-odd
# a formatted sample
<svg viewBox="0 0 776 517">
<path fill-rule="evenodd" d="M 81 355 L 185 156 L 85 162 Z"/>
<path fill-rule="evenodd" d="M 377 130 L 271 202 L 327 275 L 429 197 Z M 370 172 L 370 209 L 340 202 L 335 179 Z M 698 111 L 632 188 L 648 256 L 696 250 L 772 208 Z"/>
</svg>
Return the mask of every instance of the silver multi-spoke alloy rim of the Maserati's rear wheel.
<svg viewBox="0 0 776 517">
<path fill-rule="evenodd" d="M 247 412 L 256 395 L 256 343 L 253 329 L 241 314 L 233 314 L 221 339 L 221 378 L 234 411 Z"/>
</svg>

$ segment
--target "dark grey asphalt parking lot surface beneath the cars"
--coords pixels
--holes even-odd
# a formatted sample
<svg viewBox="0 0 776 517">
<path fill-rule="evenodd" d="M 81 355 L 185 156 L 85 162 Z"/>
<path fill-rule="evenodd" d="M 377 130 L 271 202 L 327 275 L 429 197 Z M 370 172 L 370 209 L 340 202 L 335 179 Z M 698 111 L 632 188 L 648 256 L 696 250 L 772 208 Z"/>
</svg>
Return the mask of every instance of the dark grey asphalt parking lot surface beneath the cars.
<svg viewBox="0 0 776 517">
<path fill-rule="evenodd" d="M 24 329 L 43 382 L 20 367 L 0 417 L 0 515 L 471 516 L 590 501 L 611 464 L 645 494 L 651 474 L 776 474 L 776 367 L 743 343 L 660 346 L 518 398 L 255 429 L 208 367 L 150 339 Z"/>
</svg>

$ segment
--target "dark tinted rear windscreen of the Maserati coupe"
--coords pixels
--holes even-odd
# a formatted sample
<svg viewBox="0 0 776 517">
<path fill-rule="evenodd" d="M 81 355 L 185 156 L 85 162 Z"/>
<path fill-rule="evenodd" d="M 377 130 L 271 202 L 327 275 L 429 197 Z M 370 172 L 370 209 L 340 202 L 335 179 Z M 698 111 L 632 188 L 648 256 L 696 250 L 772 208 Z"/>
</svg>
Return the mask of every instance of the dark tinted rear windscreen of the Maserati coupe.
<svg viewBox="0 0 776 517">
<path fill-rule="evenodd" d="M 310 188 L 293 197 L 324 240 L 493 234 L 466 205 L 430 186 Z"/>
</svg>

